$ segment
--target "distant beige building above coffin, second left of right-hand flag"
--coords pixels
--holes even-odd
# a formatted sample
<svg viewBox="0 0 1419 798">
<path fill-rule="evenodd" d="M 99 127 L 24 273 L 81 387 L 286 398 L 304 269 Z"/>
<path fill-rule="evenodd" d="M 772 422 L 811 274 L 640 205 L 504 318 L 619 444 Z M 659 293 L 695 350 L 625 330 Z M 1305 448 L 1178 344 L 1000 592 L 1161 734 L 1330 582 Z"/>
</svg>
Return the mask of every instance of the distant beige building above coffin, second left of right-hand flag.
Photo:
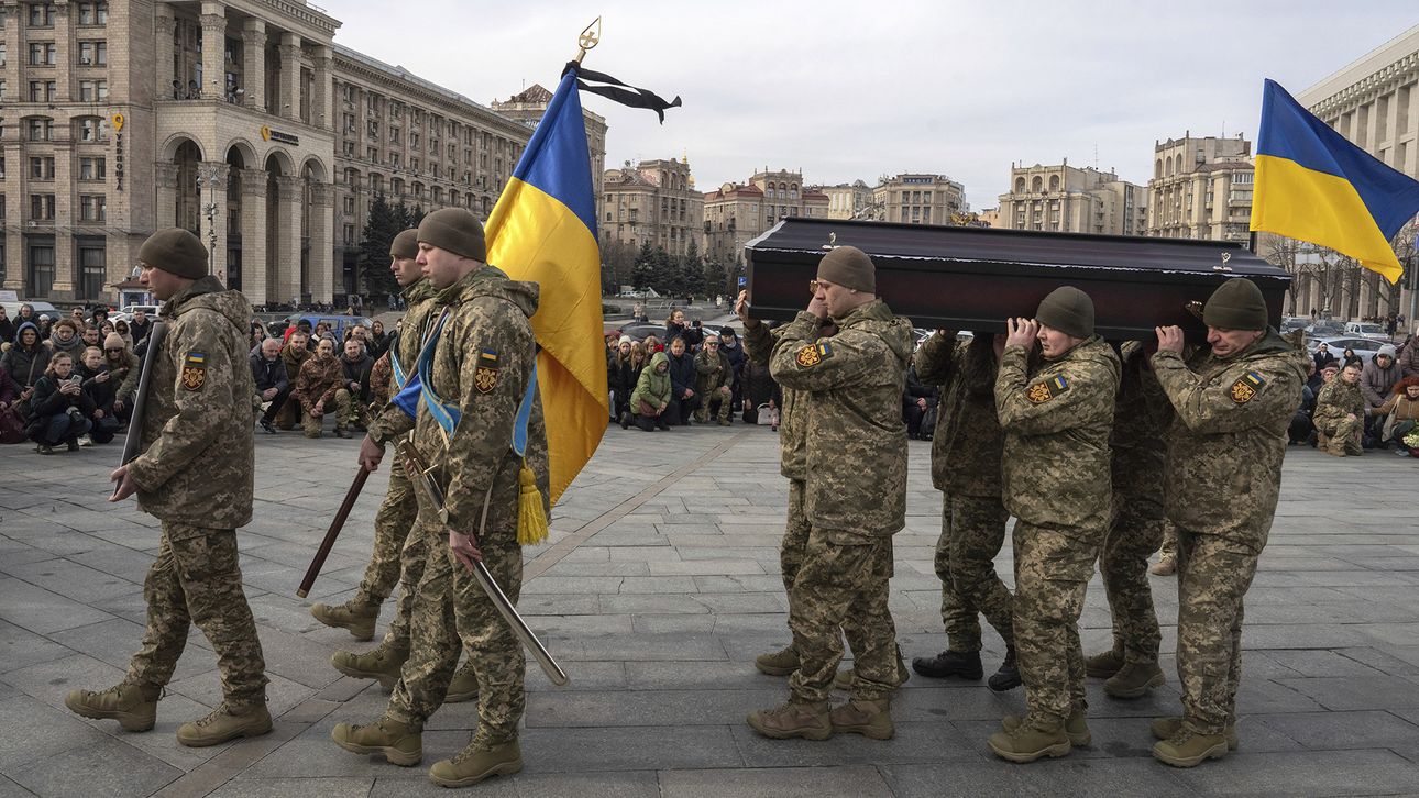
<svg viewBox="0 0 1419 798">
<path fill-rule="evenodd" d="M 1049 230 L 1104 235 L 1142 235 L 1148 200 L 1142 186 L 1114 172 L 1010 164 L 1010 191 L 992 208 L 990 225 L 1007 230 Z"/>
</svg>

